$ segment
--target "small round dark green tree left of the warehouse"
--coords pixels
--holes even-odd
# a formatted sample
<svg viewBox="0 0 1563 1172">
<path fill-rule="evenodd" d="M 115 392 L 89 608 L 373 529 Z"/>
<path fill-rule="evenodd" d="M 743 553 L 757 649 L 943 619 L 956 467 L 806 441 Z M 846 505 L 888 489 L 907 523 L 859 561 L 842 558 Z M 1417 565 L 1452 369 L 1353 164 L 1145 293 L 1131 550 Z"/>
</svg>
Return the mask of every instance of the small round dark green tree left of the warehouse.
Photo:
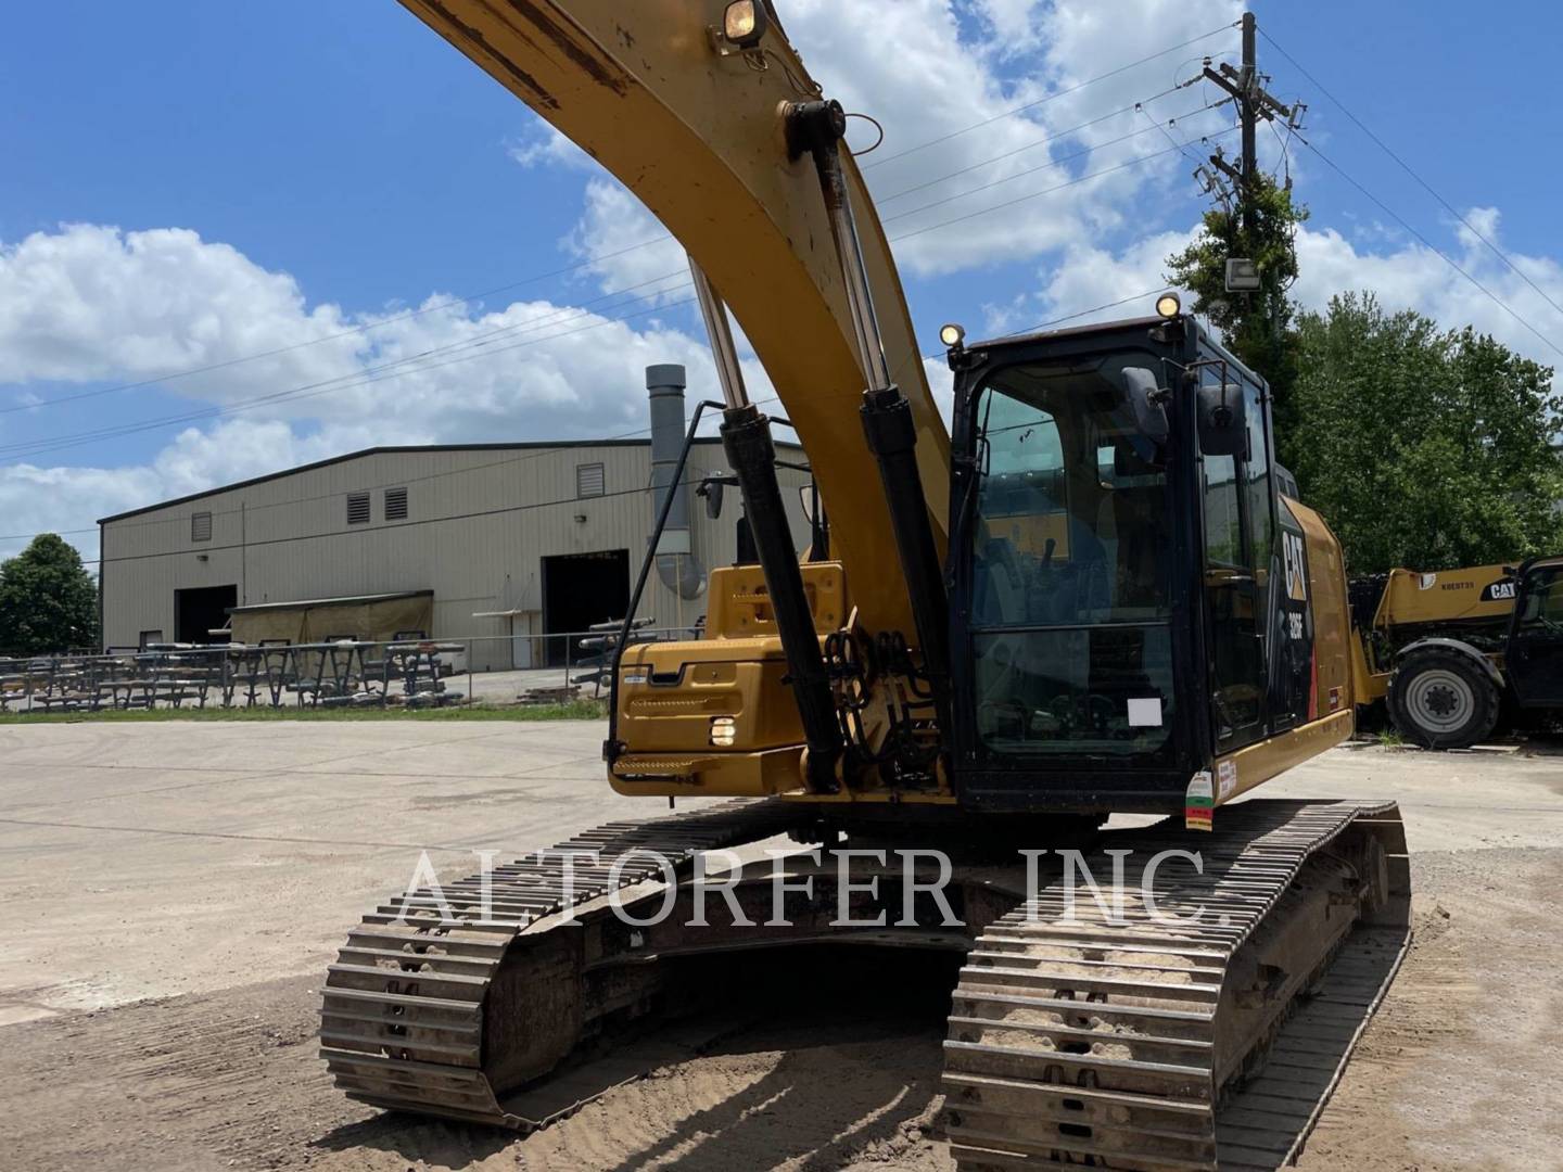
<svg viewBox="0 0 1563 1172">
<path fill-rule="evenodd" d="M 97 584 L 63 538 L 41 533 L 0 563 L 0 650 L 67 652 L 97 638 Z"/>
</svg>

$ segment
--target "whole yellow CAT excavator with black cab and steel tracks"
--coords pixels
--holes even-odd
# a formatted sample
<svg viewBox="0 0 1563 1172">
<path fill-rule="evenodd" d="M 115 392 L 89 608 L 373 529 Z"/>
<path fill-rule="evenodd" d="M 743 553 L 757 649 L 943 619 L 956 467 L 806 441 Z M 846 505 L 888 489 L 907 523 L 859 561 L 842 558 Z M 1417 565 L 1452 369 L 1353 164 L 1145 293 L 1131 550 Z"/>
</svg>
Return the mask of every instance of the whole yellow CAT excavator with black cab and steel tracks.
<svg viewBox="0 0 1563 1172">
<path fill-rule="evenodd" d="M 1285 1159 L 1404 949 L 1408 866 L 1391 803 L 1236 800 L 1354 730 L 1339 545 L 1282 491 L 1264 381 L 1175 297 L 947 327 L 947 430 L 842 108 L 769 3 L 402 3 L 688 250 L 756 559 L 711 572 L 700 639 L 625 619 L 608 780 L 685 806 L 366 916 L 324 994 L 338 1086 L 536 1128 L 588 1042 L 733 956 L 933 949 L 964 966 L 963 1169 Z M 802 563 L 730 317 L 817 481 Z"/>
</svg>

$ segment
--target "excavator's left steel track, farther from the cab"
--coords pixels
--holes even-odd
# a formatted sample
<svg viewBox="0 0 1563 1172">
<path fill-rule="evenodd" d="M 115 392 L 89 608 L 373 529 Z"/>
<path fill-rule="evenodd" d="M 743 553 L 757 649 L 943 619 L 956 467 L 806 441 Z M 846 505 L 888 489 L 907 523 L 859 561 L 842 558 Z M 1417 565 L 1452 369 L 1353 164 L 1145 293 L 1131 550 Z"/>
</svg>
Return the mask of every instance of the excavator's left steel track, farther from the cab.
<svg viewBox="0 0 1563 1172">
<path fill-rule="evenodd" d="M 552 1119 L 506 1111 L 506 1091 L 547 1074 L 625 1005 L 613 989 L 594 1003 L 581 995 L 585 933 L 550 924 L 528 936 L 527 928 L 660 878 L 653 853 L 681 870 L 702 850 L 756 842 L 807 816 L 796 805 L 741 799 L 611 822 L 486 880 L 416 888 L 378 906 L 327 975 L 320 1056 L 336 1086 L 388 1109 L 522 1131 L 547 1125 Z M 575 861 L 567 883 L 564 852 L 597 859 Z"/>
</svg>

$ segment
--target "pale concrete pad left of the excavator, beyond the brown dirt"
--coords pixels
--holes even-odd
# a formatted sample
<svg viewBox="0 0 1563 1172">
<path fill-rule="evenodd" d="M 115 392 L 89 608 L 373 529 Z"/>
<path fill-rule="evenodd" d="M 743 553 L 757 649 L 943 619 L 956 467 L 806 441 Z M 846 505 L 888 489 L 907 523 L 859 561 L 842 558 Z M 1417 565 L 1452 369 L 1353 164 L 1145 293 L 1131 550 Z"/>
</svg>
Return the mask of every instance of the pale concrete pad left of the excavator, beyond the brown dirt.
<svg viewBox="0 0 1563 1172">
<path fill-rule="evenodd" d="M 347 928 L 475 850 L 520 855 L 636 811 L 597 722 L 6 728 L 6 1019 L 320 974 Z M 477 769 L 467 770 L 467 761 Z M 211 770 L 180 763 L 264 763 Z M 410 764 L 439 772 L 410 770 Z M 508 774 L 500 774 L 500 767 Z"/>
</svg>

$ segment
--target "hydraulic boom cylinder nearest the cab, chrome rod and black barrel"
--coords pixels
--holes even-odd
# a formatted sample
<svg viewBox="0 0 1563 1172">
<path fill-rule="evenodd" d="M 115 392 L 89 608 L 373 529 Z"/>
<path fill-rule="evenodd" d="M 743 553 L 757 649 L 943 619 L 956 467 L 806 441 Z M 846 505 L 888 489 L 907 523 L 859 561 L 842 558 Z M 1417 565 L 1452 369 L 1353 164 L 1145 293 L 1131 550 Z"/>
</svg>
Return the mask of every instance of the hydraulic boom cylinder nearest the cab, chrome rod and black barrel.
<svg viewBox="0 0 1563 1172">
<path fill-rule="evenodd" d="M 852 195 L 841 169 L 841 138 L 846 134 L 846 127 L 847 116 L 839 102 L 796 102 L 786 109 L 788 148 L 792 158 L 811 155 L 819 170 L 819 186 L 825 197 L 825 211 L 830 214 L 830 231 L 852 308 L 858 361 L 867 380 L 867 389 L 863 392 L 863 433 L 869 452 L 878 463 L 880 481 L 885 486 L 896 552 L 907 580 L 911 617 L 917 625 L 917 647 L 922 652 L 922 670 L 933 691 L 939 731 L 949 736 L 949 602 L 933 527 L 928 523 L 922 475 L 917 472 L 916 422 L 911 403 L 891 378 L 889 363 L 885 358 L 867 267 L 863 263 L 863 245 L 852 214 Z"/>
</svg>

